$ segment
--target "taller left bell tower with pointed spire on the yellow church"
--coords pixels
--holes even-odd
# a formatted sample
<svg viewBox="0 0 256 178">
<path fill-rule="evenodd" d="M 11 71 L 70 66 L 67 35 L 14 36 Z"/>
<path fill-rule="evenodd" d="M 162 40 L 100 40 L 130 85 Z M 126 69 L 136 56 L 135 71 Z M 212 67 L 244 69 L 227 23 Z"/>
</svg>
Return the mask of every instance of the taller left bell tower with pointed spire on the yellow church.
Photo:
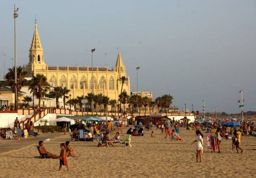
<svg viewBox="0 0 256 178">
<path fill-rule="evenodd" d="M 29 50 L 29 62 L 27 64 L 28 76 L 35 75 L 35 70 L 46 70 L 46 63 L 44 63 L 44 54 L 42 44 L 37 31 L 37 23 L 35 23 L 34 35 Z"/>
</svg>

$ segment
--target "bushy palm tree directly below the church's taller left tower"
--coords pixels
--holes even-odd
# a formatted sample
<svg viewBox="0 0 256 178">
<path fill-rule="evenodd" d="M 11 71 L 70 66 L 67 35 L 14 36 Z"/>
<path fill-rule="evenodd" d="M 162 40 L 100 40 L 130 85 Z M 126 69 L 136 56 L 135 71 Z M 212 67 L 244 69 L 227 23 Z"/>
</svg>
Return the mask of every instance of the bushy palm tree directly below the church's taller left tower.
<svg viewBox="0 0 256 178">
<path fill-rule="evenodd" d="M 47 78 L 43 74 L 36 74 L 36 76 L 32 77 L 31 81 L 31 85 L 28 89 L 38 98 L 38 106 L 40 107 L 41 98 L 44 97 L 46 92 L 50 89 Z"/>
</svg>

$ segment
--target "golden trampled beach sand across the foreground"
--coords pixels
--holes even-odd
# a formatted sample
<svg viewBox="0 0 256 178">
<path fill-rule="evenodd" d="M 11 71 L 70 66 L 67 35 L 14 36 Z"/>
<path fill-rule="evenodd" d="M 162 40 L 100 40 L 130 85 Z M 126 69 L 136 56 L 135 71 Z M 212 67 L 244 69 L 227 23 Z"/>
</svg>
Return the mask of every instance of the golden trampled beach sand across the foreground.
<svg viewBox="0 0 256 178">
<path fill-rule="evenodd" d="M 242 137 L 243 154 L 232 150 L 231 140 L 221 143 L 222 153 L 211 153 L 207 148 L 204 134 L 203 162 L 195 157 L 196 139 L 194 132 L 181 130 L 184 141 L 171 142 L 164 134 L 154 129 L 145 132 L 144 137 L 132 137 L 132 147 L 116 144 L 116 147 L 97 148 L 96 142 L 71 142 L 78 157 L 68 157 L 70 172 L 63 166 L 61 171 L 58 159 L 38 159 L 34 145 L 0 154 L 0 177 L 255 177 L 256 137 Z M 114 133 L 110 134 L 110 138 Z M 123 138 L 124 134 L 121 134 Z M 38 137 L 38 141 L 40 137 Z M 59 144 L 70 140 L 63 135 L 50 142 L 44 142 L 47 151 L 59 154 Z M 18 142 L 18 140 L 16 140 Z M 4 143 L 2 143 L 4 144 Z M 0 146 L 1 148 L 1 146 Z"/>
</svg>

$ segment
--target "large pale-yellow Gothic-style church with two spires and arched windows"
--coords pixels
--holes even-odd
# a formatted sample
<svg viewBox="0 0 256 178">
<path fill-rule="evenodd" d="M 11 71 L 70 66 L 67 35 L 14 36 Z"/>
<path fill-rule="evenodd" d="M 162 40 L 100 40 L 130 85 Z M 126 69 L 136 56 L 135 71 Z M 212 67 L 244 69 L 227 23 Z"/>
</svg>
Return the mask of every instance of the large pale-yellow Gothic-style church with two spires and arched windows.
<svg viewBox="0 0 256 178">
<path fill-rule="evenodd" d="M 110 70 L 108 66 L 101 67 L 60 67 L 61 64 L 53 67 L 48 66 L 44 59 L 44 51 L 37 31 L 37 24 L 31 47 L 29 50 L 29 62 L 24 66 L 24 70 L 28 72 L 28 77 L 43 74 L 47 77 L 50 86 L 67 87 L 71 94 L 71 99 L 77 96 L 87 96 L 87 93 L 95 94 L 102 93 L 110 99 L 118 100 L 118 95 L 121 92 L 122 83 L 119 77 L 126 76 L 127 82 L 123 85 L 123 91 L 130 94 L 129 76 L 126 75 L 126 69 L 123 64 L 120 51 L 117 55 L 116 65 Z M 47 59 L 46 59 L 47 60 Z"/>
</svg>

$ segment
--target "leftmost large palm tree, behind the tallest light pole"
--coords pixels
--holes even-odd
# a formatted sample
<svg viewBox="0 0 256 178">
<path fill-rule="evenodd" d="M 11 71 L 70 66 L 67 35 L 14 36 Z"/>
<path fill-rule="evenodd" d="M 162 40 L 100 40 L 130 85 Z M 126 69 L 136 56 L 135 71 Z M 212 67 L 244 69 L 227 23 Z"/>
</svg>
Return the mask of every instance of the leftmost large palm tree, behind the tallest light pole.
<svg viewBox="0 0 256 178">
<path fill-rule="evenodd" d="M 15 67 L 13 67 L 12 69 L 9 68 L 8 71 L 9 72 L 5 75 L 5 80 L 6 80 L 6 83 L 11 86 L 12 92 L 14 93 L 15 92 Z M 17 67 L 16 71 L 17 71 L 17 93 L 18 93 L 20 92 L 21 87 L 24 86 L 25 81 L 27 81 L 25 79 L 27 75 L 27 71 L 23 71 L 21 66 Z M 17 94 L 17 101 L 18 101 L 18 94 Z"/>
</svg>

